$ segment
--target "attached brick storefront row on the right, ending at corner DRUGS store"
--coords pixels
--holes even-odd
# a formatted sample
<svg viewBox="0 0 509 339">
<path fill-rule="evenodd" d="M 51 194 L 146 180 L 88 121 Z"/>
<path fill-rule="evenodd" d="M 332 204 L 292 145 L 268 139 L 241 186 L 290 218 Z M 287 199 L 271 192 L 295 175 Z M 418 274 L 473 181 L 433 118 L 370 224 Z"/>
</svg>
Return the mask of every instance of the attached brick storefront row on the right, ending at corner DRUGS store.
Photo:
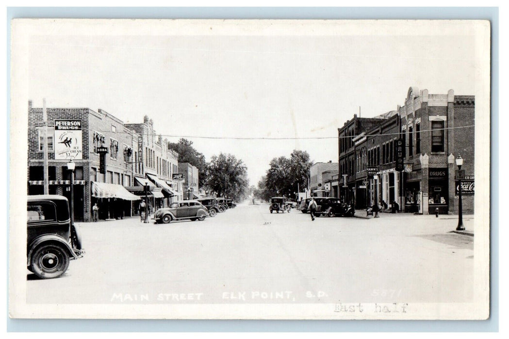
<svg viewBox="0 0 509 339">
<path fill-rule="evenodd" d="M 457 213 L 455 159 L 459 155 L 464 159 L 462 169 L 469 187 L 474 182 L 474 113 L 473 96 L 455 96 L 453 90 L 430 95 L 426 89 L 410 87 L 403 106 L 369 120 L 369 127 L 363 124 L 364 118 L 354 115 L 338 129 L 340 187 L 347 186 L 340 189 L 340 197 L 357 208 L 375 201 L 391 207 L 395 201 L 407 212 Z M 406 146 L 403 172 L 395 171 L 394 143 L 398 138 L 403 138 Z M 370 165 L 378 166 L 375 178 L 365 172 Z M 369 188 L 360 190 L 361 181 L 369 182 Z M 472 213 L 473 195 L 468 194 L 463 197 L 463 209 Z"/>
</svg>

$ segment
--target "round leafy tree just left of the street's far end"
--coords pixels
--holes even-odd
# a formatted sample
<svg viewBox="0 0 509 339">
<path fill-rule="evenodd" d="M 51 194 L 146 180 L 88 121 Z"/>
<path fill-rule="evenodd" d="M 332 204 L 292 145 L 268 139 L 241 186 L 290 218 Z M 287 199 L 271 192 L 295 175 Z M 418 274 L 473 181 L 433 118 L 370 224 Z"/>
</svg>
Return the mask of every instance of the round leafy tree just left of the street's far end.
<svg viewBox="0 0 509 339">
<path fill-rule="evenodd" d="M 240 201 L 248 194 L 247 167 L 231 154 L 212 156 L 207 164 L 206 177 L 206 186 L 218 197 Z"/>
</svg>

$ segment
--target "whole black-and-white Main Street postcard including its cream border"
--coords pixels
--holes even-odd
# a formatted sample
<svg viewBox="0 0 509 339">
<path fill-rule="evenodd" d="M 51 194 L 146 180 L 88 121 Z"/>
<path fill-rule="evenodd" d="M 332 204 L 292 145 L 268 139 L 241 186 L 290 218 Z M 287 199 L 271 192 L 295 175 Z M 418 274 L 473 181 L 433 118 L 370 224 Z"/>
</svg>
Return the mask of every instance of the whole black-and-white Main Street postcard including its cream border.
<svg viewBox="0 0 509 339">
<path fill-rule="evenodd" d="M 489 318 L 489 21 L 11 29 L 11 317 Z"/>
</svg>

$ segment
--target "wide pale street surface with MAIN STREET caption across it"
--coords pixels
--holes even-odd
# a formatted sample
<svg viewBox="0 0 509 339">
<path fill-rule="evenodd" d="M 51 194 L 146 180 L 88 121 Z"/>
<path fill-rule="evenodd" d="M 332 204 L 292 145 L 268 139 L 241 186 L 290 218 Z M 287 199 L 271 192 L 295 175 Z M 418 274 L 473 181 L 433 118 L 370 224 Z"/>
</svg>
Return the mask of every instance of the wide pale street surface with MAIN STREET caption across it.
<svg viewBox="0 0 509 339">
<path fill-rule="evenodd" d="M 239 205 L 205 221 L 79 224 L 86 255 L 27 275 L 29 303 L 465 302 L 473 237 L 454 216 L 317 218 Z M 467 229 L 473 219 L 465 218 Z"/>
</svg>

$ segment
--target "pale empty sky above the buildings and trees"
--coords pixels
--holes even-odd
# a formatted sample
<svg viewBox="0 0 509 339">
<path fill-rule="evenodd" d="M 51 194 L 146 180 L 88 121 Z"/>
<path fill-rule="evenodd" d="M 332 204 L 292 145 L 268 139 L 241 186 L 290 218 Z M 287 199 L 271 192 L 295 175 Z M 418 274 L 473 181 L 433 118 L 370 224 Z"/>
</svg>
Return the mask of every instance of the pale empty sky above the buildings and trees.
<svg viewBox="0 0 509 339">
<path fill-rule="evenodd" d="M 293 149 L 337 162 L 337 129 L 359 110 L 396 110 L 410 86 L 478 90 L 475 34 L 461 25 L 232 26 L 46 25 L 27 39 L 27 100 L 100 108 L 125 123 L 148 115 L 156 133 L 191 140 L 207 161 L 220 152 L 242 159 L 256 185 Z"/>
</svg>

